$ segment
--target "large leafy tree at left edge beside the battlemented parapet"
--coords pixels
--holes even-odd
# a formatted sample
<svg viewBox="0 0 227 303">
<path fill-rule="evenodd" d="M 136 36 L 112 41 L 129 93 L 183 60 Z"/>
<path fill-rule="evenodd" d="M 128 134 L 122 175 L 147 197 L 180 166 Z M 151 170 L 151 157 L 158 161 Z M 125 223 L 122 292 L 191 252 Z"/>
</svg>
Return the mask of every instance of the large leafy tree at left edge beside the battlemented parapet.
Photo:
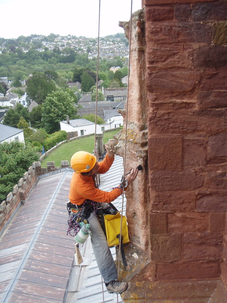
<svg viewBox="0 0 227 303">
<path fill-rule="evenodd" d="M 30 144 L 19 141 L 0 144 L 0 155 L 0 201 L 3 201 L 40 156 Z"/>
</svg>

